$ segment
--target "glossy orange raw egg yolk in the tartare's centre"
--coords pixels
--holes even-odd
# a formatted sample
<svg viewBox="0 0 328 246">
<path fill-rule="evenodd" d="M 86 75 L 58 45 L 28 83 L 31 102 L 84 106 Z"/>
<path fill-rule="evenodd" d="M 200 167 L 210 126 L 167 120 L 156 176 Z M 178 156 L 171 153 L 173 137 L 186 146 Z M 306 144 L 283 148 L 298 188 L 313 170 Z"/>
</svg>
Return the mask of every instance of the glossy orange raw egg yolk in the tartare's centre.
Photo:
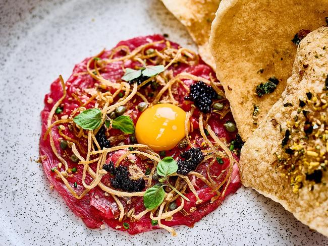
<svg viewBox="0 0 328 246">
<path fill-rule="evenodd" d="M 185 119 L 186 112 L 173 104 L 160 103 L 147 108 L 136 124 L 138 143 L 154 151 L 173 149 L 185 137 Z"/>
</svg>

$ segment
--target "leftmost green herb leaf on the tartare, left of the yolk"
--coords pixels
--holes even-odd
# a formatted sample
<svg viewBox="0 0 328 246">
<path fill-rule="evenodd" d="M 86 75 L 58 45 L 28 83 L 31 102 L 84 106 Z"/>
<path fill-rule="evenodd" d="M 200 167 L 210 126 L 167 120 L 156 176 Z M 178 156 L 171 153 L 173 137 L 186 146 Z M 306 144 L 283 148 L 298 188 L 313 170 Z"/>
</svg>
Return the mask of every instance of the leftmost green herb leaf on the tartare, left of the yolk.
<svg viewBox="0 0 328 246">
<path fill-rule="evenodd" d="M 101 111 L 98 108 L 84 110 L 73 121 L 84 130 L 94 130 L 101 124 Z"/>
</svg>

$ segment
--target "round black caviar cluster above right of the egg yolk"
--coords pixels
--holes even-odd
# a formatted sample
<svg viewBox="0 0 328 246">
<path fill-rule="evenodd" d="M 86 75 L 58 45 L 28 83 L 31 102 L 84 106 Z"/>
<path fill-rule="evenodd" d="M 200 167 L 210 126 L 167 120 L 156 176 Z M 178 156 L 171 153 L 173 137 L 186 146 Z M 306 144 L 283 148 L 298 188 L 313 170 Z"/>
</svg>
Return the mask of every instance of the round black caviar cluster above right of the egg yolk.
<svg viewBox="0 0 328 246">
<path fill-rule="evenodd" d="M 190 86 L 190 94 L 185 97 L 185 100 L 193 101 L 201 112 L 209 113 L 212 100 L 216 97 L 217 94 L 211 86 L 198 81 Z"/>
</svg>

